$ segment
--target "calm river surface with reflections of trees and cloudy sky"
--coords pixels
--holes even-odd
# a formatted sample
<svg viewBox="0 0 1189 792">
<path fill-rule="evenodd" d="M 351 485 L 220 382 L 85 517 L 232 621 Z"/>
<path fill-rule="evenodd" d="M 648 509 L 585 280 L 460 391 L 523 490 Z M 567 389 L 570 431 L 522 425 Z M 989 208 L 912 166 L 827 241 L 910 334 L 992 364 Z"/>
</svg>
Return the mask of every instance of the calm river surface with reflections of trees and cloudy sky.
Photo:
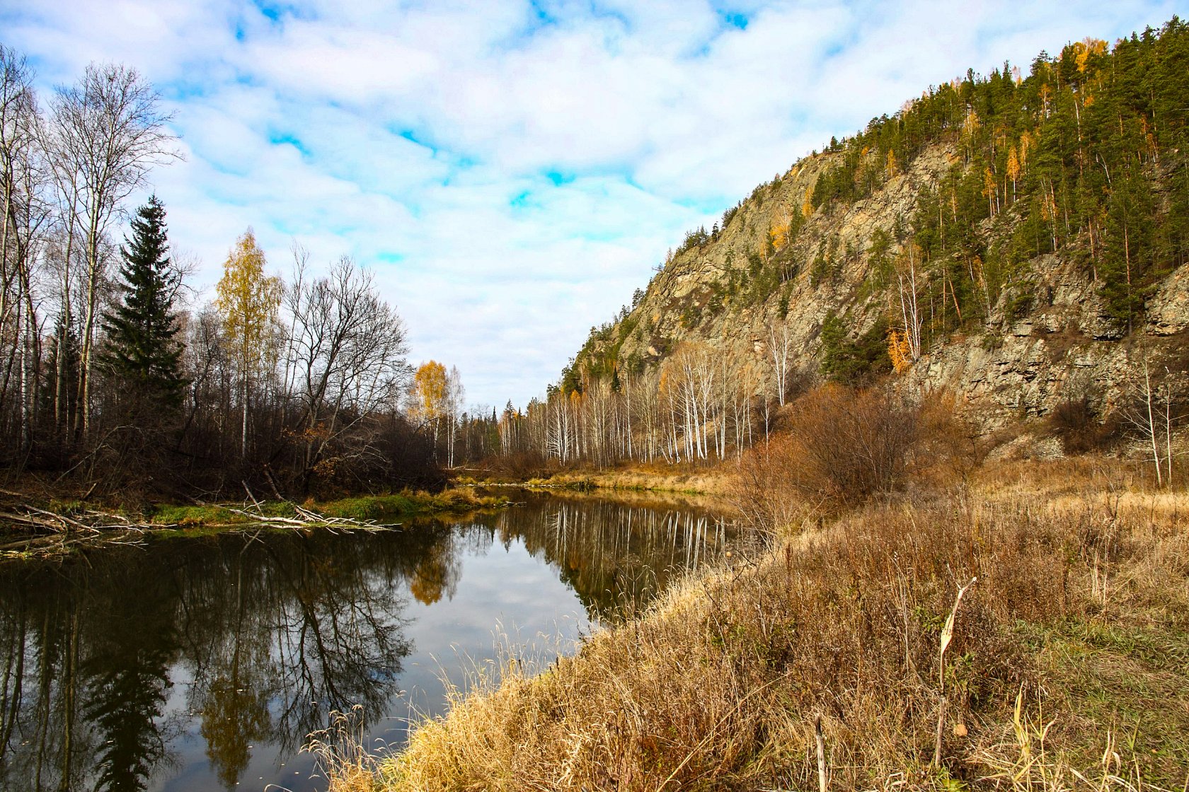
<svg viewBox="0 0 1189 792">
<path fill-rule="evenodd" d="M 548 661 L 731 528 L 680 501 L 516 495 L 383 533 L 244 533 L 0 564 L 0 790 L 320 790 L 307 735 L 398 748 L 445 676 Z M 501 638 L 501 635 L 505 638 Z"/>
</svg>

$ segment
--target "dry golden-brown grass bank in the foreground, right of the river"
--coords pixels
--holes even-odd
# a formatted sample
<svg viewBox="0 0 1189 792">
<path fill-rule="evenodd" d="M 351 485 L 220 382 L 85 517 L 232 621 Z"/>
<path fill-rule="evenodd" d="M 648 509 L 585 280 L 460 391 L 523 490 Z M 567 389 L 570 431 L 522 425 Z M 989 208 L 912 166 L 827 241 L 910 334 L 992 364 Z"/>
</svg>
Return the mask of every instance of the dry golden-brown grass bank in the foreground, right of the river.
<svg viewBox="0 0 1189 792">
<path fill-rule="evenodd" d="M 335 754 L 332 788 L 812 788 L 819 759 L 836 790 L 1184 788 L 1189 496 L 1126 475 L 845 512 L 457 691 L 401 754 Z"/>
</svg>

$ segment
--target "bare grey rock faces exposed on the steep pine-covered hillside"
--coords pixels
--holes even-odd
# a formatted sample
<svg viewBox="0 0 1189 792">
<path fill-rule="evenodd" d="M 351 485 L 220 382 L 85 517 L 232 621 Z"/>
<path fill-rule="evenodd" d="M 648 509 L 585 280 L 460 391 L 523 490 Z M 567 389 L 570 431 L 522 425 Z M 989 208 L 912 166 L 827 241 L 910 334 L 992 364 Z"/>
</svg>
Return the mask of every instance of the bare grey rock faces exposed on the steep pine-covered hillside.
<svg viewBox="0 0 1189 792">
<path fill-rule="evenodd" d="M 762 369 L 770 328 L 787 325 L 791 362 L 816 372 L 822 324 L 831 312 L 843 317 L 851 338 L 881 317 L 900 321 L 894 278 L 880 284 L 872 271 L 872 239 L 877 230 L 894 239 L 898 227 L 907 228 L 919 192 L 935 185 L 957 157 L 951 148 L 935 146 L 869 198 L 812 211 L 795 240 L 772 254 L 795 274 L 759 299 L 749 299 L 743 289 L 732 293 L 732 279 L 736 285 L 746 281 L 743 273 L 769 255 L 772 229 L 803 216 L 806 195 L 838 154 L 801 160 L 779 182 L 759 188 L 717 240 L 680 253 L 658 273 L 615 330 L 616 340 L 625 334 L 621 356 L 655 365 L 679 343 L 693 341 Z M 814 284 L 812 262 L 829 251 L 831 271 Z M 901 252 L 893 241 L 889 255 Z M 964 331 L 924 337 L 920 359 L 900 376 L 904 386 L 951 388 L 965 410 L 994 427 L 1044 416 L 1074 387 L 1090 387 L 1105 406 L 1116 404 L 1134 382 L 1143 355 L 1158 366 L 1189 356 L 1189 334 L 1183 334 L 1189 328 L 1189 267 L 1165 278 L 1149 300 L 1146 324 L 1127 338 L 1106 316 L 1097 285 L 1072 261 L 1062 254 L 1042 255 L 1030 262 L 1030 273 L 1026 285 L 998 296 L 979 328 L 967 323 Z M 926 306 L 926 318 L 930 310 L 952 306 Z"/>
</svg>

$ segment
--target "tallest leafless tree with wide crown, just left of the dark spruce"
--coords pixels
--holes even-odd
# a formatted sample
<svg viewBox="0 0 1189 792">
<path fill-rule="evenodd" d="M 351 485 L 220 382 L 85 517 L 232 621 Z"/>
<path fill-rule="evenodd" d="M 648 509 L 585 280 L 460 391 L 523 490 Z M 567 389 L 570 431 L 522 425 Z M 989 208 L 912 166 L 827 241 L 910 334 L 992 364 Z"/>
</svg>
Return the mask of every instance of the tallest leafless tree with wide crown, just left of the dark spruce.
<svg viewBox="0 0 1189 792">
<path fill-rule="evenodd" d="M 99 293 L 106 274 L 103 239 L 121 204 L 145 184 L 158 164 L 178 154 L 170 148 L 168 114 L 159 96 L 136 69 L 90 64 L 74 85 L 61 85 L 51 102 L 52 156 L 65 204 L 83 235 L 83 322 L 78 405 L 83 431 L 89 398 Z"/>
</svg>

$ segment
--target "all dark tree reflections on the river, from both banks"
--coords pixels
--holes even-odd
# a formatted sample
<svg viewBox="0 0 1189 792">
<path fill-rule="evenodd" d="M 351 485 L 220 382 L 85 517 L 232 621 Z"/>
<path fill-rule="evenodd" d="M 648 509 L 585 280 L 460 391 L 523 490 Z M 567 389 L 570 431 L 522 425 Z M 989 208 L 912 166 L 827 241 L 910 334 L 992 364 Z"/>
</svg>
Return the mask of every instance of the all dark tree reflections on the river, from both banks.
<svg viewBox="0 0 1189 792">
<path fill-rule="evenodd" d="M 252 746 L 297 749 L 331 710 L 366 722 L 396 691 L 404 591 L 453 597 L 463 558 L 522 540 L 592 617 L 713 556 L 722 521 L 690 511 L 530 500 L 465 526 L 222 536 L 0 566 L 0 788 L 143 790 L 197 718 L 219 781 Z M 181 685 L 185 711 L 169 711 Z M 176 699 L 175 699 L 176 701 Z"/>
</svg>

